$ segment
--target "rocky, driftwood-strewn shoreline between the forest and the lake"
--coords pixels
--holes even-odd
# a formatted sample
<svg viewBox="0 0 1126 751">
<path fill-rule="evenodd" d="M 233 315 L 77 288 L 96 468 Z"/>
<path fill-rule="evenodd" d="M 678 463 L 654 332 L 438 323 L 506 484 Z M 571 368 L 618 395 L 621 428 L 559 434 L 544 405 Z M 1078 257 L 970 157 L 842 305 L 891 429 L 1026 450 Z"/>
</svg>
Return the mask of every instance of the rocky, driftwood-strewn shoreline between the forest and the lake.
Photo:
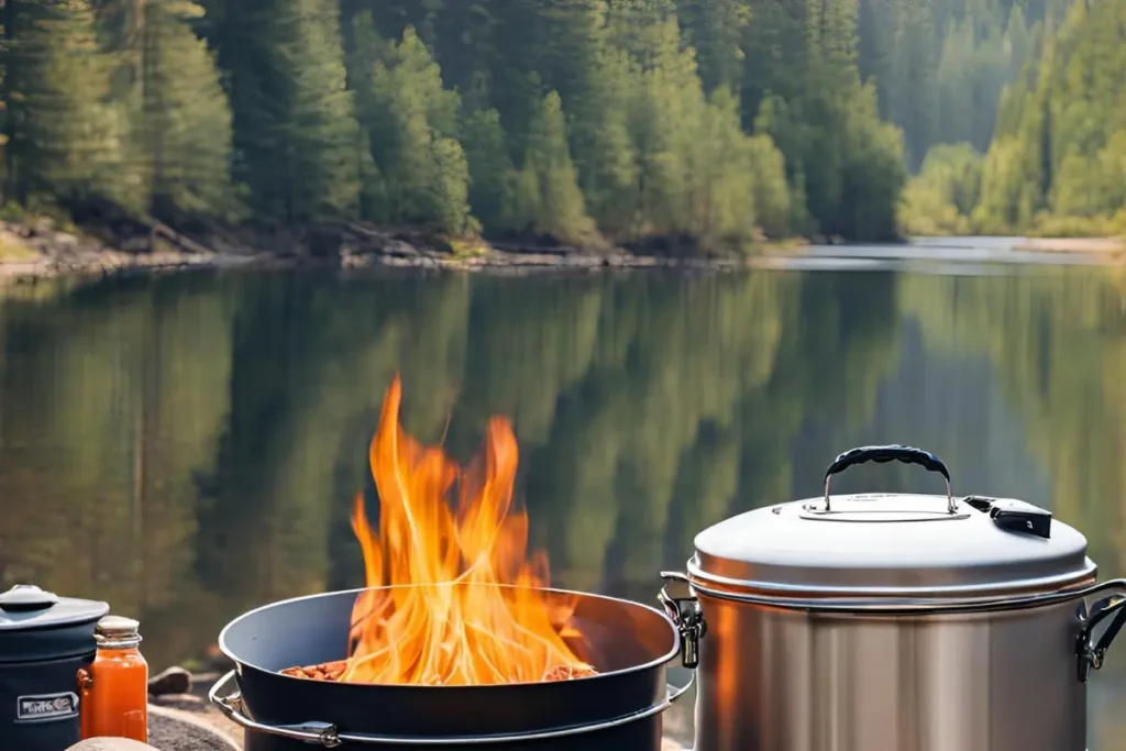
<svg viewBox="0 0 1126 751">
<path fill-rule="evenodd" d="M 140 231 L 138 231 L 140 230 Z M 910 243 L 917 251 L 936 248 L 935 239 Z M 1126 260 L 1126 241 L 1094 239 L 1013 239 L 1013 251 L 1089 256 L 1101 262 Z M 917 247 L 915 247 L 917 245 Z M 900 248 L 909 247 L 893 245 Z M 769 243 L 742 256 L 676 256 L 633 253 L 622 249 L 588 252 L 573 248 L 489 244 L 447 240 L 417 230 L 349 223 L 304 231 L 248 232 L 238 235 L 187 236 L 154 221 L 133 222 L 126 231 L 83 232 L 59 229 L 50 220 L 0 221 L 0 285 L 52 277 L 107 277 L 225 268 L 328 269 L 364 272 L 373 269 L 430 269 L 529 275 L 597 272 L 627 269 L 734 271 L 777 267 L 801 257 L 804 242 Z M 811 249 L 823 254 L 825 249 Z M 840 248 L 848 257 L 848 247 Z"/>
</svg>

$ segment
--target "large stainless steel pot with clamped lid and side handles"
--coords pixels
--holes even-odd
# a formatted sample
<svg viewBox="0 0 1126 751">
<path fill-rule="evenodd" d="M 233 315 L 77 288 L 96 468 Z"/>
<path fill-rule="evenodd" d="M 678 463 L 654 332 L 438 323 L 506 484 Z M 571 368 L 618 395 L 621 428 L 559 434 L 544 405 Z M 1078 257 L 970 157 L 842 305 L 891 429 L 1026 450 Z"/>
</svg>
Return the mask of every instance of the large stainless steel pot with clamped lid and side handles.
<svg viewBox="0 0 1126 751">
<path fill-rule="evenodd" d="M 830 494 L 891 461 L 946 495 Z M 706 529 L 687 574 L 662 574 L 690 590 L 661 600 L 699 643 L 695 751 L 1082 751 L 1087 678 L 1126 622 L 1126 580 L 1096 582 L 1083 535 L 955 498 L 906 446 L 841 454 L 824 480 Z"/>
</svg>

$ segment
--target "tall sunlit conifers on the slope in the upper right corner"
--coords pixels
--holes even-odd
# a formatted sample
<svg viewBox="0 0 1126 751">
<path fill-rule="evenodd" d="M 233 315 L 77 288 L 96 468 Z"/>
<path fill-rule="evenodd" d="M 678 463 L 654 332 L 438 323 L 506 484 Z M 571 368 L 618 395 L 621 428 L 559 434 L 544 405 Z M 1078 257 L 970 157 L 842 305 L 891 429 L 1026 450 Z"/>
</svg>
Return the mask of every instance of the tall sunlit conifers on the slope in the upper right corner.
<svg viewBox="0 0 1126 751">
<path fill-rule="evenodd" d="M 1076 2 L 1006 93 L 973 218 L 984 231 L 1114 231 L 1126 207 L 1126 8 Z M 1080 227 L 1088 232 L 1080 232 Z"/>
</svg>

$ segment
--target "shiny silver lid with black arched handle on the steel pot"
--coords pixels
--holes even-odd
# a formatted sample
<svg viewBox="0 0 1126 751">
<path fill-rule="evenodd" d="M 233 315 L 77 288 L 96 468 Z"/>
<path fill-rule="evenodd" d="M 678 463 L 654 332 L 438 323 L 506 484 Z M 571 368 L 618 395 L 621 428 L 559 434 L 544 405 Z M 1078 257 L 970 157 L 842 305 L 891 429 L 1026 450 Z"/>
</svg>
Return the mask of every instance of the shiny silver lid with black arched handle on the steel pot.
<svg viewBox="0 0 1126 751">
<path fill-rule="evenodd" d="M 832 475 L 891 461 L 941 474 L 947 494 L 830 493 Z M 1016 499 L 955 498 L 949 471 L 929 452 L 852 449 L 824 480 L 822 498 L 749 511 L 700 533 L 690 578 L 733 594 L 950 598 L 1056 591 L 1096 575 L 1082 534 Z"/>
</svg>

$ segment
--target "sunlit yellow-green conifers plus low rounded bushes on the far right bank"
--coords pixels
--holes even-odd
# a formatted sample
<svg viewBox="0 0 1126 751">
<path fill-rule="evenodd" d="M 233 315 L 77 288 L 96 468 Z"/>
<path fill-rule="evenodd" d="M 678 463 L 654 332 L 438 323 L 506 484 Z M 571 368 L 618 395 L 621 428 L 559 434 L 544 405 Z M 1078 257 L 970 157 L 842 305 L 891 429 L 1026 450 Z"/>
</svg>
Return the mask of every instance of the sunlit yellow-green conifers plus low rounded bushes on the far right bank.
<svg viewBox="0 0 1126 751">
<path fill-rule="evenodd" d="M 1081 0 L 1047 25 L 984 151 L 931 150 L 906 190 L 908 229 L 1126 234 L 1126 1 Z"/>
</svg>

